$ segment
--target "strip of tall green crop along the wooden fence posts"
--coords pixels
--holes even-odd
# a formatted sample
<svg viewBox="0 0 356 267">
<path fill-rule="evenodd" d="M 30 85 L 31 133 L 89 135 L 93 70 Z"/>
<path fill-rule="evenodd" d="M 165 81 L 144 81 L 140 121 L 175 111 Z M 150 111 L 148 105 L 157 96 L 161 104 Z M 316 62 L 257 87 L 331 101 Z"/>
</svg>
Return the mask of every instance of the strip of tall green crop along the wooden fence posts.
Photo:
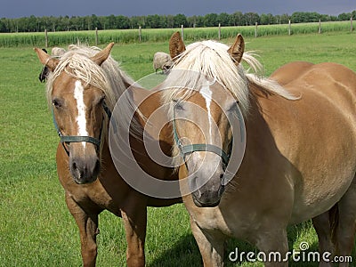
<svg viewBox="0 0 356 267">
<path fill-rule="evenodd" d="M 44 33 L 13 33 L 0 34 L 0 47 L 13 47 L 22 45 L 31 46 L 61 46 L 66 44 L 74 44 L 79 40 L 85 44 L 99 45 L 115 43 L 134 43 L 134 42 L 166 42 L 172 33 L 180 31 L 184 40 L 196 41 L 201 39 L 224 39 L 233 38 L 238 33 L 247 37 L 261 36 L 286 36 L 297 34 L 312 34 L 326 32 L 350 32 L 353 31 L 353 20 L 322 22 L 319 23 L 301 23 L 292 24 L 288 21 L 282 25 L 258 25 L 255 26 L 235 26 L 222 27 L 220 24 L 215 28 L 166 28 L 166 29 L 145 29 L 139 27 L 137 29 L 127 30 L 99 30 L 94 31 L 66 31 L 66 32 L 51 32 L 44 30 Z"/>
</svg>

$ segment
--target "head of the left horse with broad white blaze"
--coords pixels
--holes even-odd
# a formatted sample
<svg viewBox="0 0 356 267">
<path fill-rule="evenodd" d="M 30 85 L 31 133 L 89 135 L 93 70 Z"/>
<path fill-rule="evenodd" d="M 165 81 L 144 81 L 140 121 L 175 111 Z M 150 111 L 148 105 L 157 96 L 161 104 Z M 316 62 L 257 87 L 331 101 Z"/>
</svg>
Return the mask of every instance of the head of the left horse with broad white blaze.
<svg viewBox="0 0 356 267">
<path fill-rule="evenodd" d="M 105 83 L 85 76 L 105 77 L 101 64 L 109 57 L 113 43 L 93 56 L 68 52 L 61 60 L 35 48 L 39 61 L 51 71 L 47 97 L 53 122 L 69 157 L 69 170 L 75 182 L 96 180 L 101 170 L 101 135 L 107 127 Z M 67 56 L 66 56 L 67 55 Z M 82 69 L 81 69 L 82 68 Z M 93 78 L 93 77 L 91 77 Z"/>
</svg>

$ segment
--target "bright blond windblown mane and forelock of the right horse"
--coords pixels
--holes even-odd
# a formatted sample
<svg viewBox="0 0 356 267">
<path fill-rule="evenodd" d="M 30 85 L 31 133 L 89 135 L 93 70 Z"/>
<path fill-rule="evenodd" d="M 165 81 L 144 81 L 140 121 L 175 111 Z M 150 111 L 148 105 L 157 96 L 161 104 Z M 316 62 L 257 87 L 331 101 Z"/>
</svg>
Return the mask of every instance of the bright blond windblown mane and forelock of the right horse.
<svg viewBox="0 0 356 267">
<path fill-rule="evenodd" d="M 227 52 L 228 49 L 229 46 L 226 44 L 211 40 L 188 45 L 186 50 L 176 58 L 172 75 L 166 78 L 165 87 L 175 90 L 165 91 L 164 102 L 168 103 L 176 98 L 189 97 L 194 91 L 187 90 L 182 94 L 180 89 L 199 90 L 200 87 L 197 85 L 203 85 L 207 80 L 217 81 L 223 85 L 239 101 L 244 115 L 247 115 L 250 106 L 249 83 L 261 85 L 265 90 L 279 94 L 288 100 L 296 99 L 277 82 L 262 76 L 263 66 L 260 61 L 256 60 L 254 53 L 243 54 L 242 61 L 247 64 L 249 69 L 253 70 L 253 73 L 248 73 L 242 64 L 235 65 L 231 55 Z M 174 69 L 185 71 L 174 71 Z"/>
</svg>

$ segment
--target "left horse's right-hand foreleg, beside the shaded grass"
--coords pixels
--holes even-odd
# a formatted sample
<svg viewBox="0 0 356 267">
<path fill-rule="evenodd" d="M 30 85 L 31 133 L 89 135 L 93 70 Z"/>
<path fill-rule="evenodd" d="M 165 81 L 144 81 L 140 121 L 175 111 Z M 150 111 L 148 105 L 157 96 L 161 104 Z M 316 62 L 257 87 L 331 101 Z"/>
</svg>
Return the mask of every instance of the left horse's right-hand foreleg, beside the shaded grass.
<svg viewBox="0 0 356 267">
<path fill-rule="evenodd" d="M 139 267 L 145 265 L 147 207 L 140 198 L 132 198 L 129 202 L 130 206 L 121 210 L 127 241 L 126 263 L 128 267 Z"/>
</svg>

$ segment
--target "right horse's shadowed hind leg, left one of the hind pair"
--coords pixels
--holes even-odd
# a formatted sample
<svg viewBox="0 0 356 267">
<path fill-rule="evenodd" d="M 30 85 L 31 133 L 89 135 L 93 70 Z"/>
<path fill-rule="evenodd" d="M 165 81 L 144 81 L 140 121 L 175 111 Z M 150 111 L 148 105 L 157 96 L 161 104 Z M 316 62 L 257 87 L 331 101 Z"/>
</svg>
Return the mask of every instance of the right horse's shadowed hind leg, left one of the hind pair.
<svg viewBox="0 0 356 267">
<path fill-rule="evenodd" d="M 335 210 L 335 207 L 332 207 L 328 212 L 320 214 L 312 218 L 312 224 L 315 231 L 318 234 L 319 239 L 319 252 L 322 255 L 325 252 L 332 253 L 334 255 L 334 245 L 331 240 L 331 225 L 329 214 Z M 334 266 L 333 263 L 327 263 L 323 261 L 323 258 L 320 258 L 320 267 L 331 267 Z"/>
</svg>

